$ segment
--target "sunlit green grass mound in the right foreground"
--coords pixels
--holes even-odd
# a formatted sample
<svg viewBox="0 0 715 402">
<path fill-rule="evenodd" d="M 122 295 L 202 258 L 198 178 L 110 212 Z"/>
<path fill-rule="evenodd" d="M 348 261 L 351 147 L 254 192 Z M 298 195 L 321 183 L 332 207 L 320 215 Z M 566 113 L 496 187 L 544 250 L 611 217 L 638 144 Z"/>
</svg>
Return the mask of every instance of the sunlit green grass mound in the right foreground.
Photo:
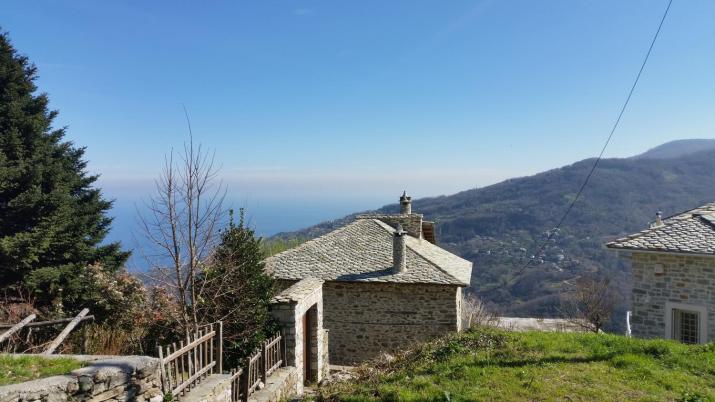
<svg viewBox="0 0 715 402">
<path fill-rule="evenodd" d="M 332 401 L 715 401 L 715 344 L 478 329 L 373 361 Z"/>
</svg>

